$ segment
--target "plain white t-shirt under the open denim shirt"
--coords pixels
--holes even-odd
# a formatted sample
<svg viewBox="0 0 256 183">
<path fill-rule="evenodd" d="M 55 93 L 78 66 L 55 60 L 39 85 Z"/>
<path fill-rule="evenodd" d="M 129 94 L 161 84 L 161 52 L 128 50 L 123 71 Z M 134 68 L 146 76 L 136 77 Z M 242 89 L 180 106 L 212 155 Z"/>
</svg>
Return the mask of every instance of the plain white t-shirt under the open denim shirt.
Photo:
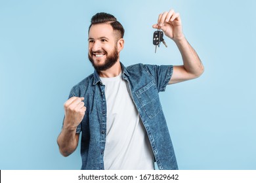
<svg viewBox="0 0 256 183">
<path fill-rule="evenodd" d="M 107 103 L 104 169 L 154 169 L 154 155 L 139 112 L 119 76 L 100 78 Z"/>
</svg>

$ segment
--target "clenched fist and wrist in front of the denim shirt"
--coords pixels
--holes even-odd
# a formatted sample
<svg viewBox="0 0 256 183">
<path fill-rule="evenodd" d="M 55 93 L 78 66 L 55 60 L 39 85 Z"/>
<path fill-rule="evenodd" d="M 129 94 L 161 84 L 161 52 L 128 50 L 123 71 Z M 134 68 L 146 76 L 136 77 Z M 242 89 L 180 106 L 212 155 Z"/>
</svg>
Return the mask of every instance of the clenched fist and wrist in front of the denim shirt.
<svg viewBox="0 0 256 183">
<path fill-rule="evenodd" d="M 76 127 L 81 123 L 86 110 L 85 103 L 83 103 L 84 99 L 84 97 L 71 97 L 66 101 L 66 103 L 64 103 L 64 127 L 76 129 Z"/>
</svg>

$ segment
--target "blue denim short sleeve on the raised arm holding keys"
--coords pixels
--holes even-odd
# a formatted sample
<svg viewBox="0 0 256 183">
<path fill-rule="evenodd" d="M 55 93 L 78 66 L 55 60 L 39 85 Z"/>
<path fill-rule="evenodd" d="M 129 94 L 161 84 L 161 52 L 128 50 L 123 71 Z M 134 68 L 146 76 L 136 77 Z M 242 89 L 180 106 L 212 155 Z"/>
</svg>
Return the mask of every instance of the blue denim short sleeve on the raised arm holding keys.
<svg viewBox="0 0 256 183">
<path fill-rule="evenodd" d="M 164 92 L 173 75 L 173 65 L 144 65 L 156 81 L 158 92 Z"/>
</svg>

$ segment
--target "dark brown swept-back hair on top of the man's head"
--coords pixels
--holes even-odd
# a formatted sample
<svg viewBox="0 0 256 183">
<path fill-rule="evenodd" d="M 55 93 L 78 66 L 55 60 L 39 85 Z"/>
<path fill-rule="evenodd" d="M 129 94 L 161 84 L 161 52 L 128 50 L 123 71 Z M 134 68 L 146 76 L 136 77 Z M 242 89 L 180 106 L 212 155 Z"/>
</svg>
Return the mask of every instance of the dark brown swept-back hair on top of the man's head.
<svg viewBox="0 0 256 183">
<path fill-rule="evenodd" d="M 116 17 L 114 17 L 112 14 L 108 14 L 106 12 L 98 12 L 91 18 L 91 25 L 103 23 L 110 24 L 114 31 L 118 31 L 120 33 L 120 38 L 123 38 L 125 29 L 123 29 L 123 25 L 121 25 L 120 22 L 117 21 Z M 91 29 L 91 25 L 89 26 L 89 31 Z"/>
</svg>

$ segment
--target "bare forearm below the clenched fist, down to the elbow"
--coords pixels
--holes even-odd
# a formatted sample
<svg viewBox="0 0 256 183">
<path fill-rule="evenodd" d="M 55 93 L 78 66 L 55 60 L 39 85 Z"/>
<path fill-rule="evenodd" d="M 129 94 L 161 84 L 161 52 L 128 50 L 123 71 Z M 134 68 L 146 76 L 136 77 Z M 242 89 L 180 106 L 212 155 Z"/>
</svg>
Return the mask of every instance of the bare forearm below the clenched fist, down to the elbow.
<svg viewBox="0 0 256 183">
<path fill-rule="evenodd" d="M 72 154 L 72 152 L 77 148 L 78 141 L 75 137 L 75 131 L 75 128 L 66 127 L 64 125 L 60 135 L 58 136 L 58 147 L 60 153 L 65 157 Z"/>
</svg>

